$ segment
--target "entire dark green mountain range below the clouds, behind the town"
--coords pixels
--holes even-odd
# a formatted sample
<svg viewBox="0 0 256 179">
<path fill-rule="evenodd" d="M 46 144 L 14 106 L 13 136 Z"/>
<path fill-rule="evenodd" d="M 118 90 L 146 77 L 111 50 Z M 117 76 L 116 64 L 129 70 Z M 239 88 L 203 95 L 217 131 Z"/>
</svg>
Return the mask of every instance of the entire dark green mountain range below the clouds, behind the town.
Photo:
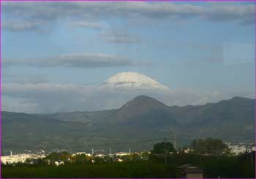
<svg viewBox="0 0 256 179">
<path fill-rule="evenodd" d="M 2 149 L 89 151 L 111 145 L 116 151 L 140 151 L 165 137 L 172 140 L 173 133 L 178 145 L 199 137 L 248 142 L 254 139 L 254 109 L 254 99 L 241 97 L 199 106 L 169 107 L 151 97 L 137 96 L 116 110 L 2 112 Z"/>
</svg>

